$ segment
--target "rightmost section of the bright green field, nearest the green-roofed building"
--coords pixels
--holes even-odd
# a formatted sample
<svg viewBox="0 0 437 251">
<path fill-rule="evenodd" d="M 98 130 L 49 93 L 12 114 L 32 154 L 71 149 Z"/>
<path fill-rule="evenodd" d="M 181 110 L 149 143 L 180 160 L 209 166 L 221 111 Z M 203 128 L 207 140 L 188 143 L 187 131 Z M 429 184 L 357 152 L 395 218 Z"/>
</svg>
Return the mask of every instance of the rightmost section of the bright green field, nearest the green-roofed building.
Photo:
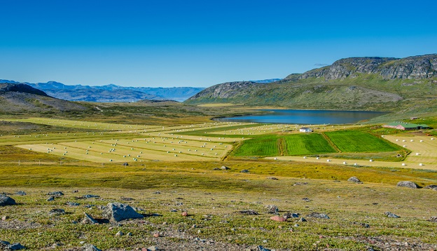
<svg viewBox="0 0 437 251">
<path fill-rule="evenodd" d="M 331 139 L 340 151 L 343 152 L 380 152 L 380 151 L 399 151 L 397 147 L 390 142 L 380 138 L 363 133 L 357 130 L 340 130 L 327 132 L 326 135 Z"/>
</svg>

